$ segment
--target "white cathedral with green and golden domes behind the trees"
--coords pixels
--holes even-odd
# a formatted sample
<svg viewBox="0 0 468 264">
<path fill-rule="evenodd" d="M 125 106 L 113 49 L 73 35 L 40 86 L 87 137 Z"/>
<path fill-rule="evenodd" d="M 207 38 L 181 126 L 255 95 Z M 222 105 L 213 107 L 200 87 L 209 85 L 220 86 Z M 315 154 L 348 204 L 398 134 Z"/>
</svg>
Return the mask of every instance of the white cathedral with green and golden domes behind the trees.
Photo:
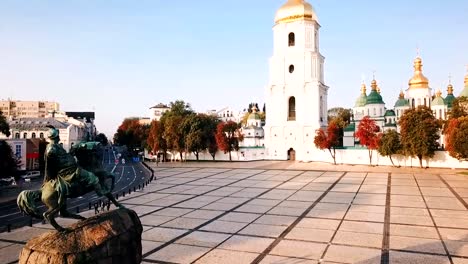
<svg viewBox="0 0 468 264">
<path fill-rule="evenodd" d="M 396 129 L 398 132 L 400 127 L 398 121 L 404 111 L 418 106 L 427 106 L 431 108 L 434 116 L 441 120 L 448 118 L 448 112 L 452 108 L 452 103 L 455 100 L 454 87 L 449 79 L 447 86 L 447 94 L 442 96 L 442 91 L 439 89 L 433 92 L 429 86 L 429 79 L 423 74 L 423 61 L 417 56 L 414 60 L 413 77 L 408 82 L 406 93 L 401 91 L 393 108 L 386 108 L 385 103 L 380 95 L 380 88 L 377 81 L 374 79 L 371 82 L 372 90 L 369 94 L 366 92 L 366 85 L 361 85 L 361 94 L 356 99 L 353 107 L 354 120 L 345 128 L 343 145 L 345 147 L 354 147 L 358 142 L 354 138 L 359 122 L 369 116 L 380 127 L 380 131 L 388 129 Z M 468 97 L 468 72 L 465 76 L 464 89 L 459 96 Z M 443 142 L 443 135 L 441 135 Z"/>
</svg>

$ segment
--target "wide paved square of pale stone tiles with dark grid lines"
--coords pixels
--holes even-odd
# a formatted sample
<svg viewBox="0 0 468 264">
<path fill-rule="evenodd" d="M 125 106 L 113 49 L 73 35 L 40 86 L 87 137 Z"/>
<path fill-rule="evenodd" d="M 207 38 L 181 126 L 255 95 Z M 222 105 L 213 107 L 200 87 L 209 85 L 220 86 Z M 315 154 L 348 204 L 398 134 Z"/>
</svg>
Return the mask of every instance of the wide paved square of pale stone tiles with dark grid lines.
<svg viewBox="0 0 468 264">
<path fill-rule="evenodd" d="M 468 263 L 468 178 L 449 170 L 154 169 L 120 199 L 144 226 L 144 263 Z M 1 233 L 2 262 L 49 230 Z"/>
</svg>

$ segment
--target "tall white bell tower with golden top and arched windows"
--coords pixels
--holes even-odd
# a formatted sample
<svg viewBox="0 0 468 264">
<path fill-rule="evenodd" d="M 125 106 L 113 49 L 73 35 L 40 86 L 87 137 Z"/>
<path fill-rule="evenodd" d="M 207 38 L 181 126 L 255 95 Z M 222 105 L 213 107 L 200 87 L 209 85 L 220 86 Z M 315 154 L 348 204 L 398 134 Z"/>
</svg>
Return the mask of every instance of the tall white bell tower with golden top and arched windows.
<svg viewBox="0 0 468 264">
<path fill-rule="evenodd" d="M 303 0 L 288 0 L 276 13 L 264 127 L 268 159 L 308 161 L 317 153 L 314 137 L 327 126 L 328 94 L 319 29 Z"/>
</svg>

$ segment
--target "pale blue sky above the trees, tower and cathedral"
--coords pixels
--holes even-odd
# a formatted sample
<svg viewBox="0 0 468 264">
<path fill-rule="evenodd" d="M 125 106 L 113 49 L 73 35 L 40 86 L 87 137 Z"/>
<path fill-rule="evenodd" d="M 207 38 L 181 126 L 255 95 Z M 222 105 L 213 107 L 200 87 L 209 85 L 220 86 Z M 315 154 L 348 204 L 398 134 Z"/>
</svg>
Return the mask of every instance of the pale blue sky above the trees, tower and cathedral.
<svg viewBox="0 0 468 264">
<path fill-rule="evenodd" d="M 2 0 L 0 98 L 125 117 L 177 99 L 197 111 L 264 102 L 275 11 L 286 0 Z M 468 1 L 311 0 L 329 107 L 352 107 L 372 72 L 391 108 L 420 48 L 431 87 L 457 95 L 468 64 Z"/>
</svg>

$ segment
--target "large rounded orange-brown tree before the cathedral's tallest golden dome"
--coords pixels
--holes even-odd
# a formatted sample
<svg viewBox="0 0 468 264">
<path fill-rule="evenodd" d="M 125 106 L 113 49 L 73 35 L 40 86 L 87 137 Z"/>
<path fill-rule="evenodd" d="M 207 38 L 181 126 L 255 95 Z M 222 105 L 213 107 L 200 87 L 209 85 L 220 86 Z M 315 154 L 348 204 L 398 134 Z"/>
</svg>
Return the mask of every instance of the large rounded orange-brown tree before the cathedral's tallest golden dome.
<svg viewBox="0 0 468 264">
<path fill-rule="evenodd" d="M 423 158 L 432 158 L 439 147 L 441 123 L 426 106 L 405 111 L 399 123 L 403 153 L 417 157 L 422 168 Z"/>
</svg>

